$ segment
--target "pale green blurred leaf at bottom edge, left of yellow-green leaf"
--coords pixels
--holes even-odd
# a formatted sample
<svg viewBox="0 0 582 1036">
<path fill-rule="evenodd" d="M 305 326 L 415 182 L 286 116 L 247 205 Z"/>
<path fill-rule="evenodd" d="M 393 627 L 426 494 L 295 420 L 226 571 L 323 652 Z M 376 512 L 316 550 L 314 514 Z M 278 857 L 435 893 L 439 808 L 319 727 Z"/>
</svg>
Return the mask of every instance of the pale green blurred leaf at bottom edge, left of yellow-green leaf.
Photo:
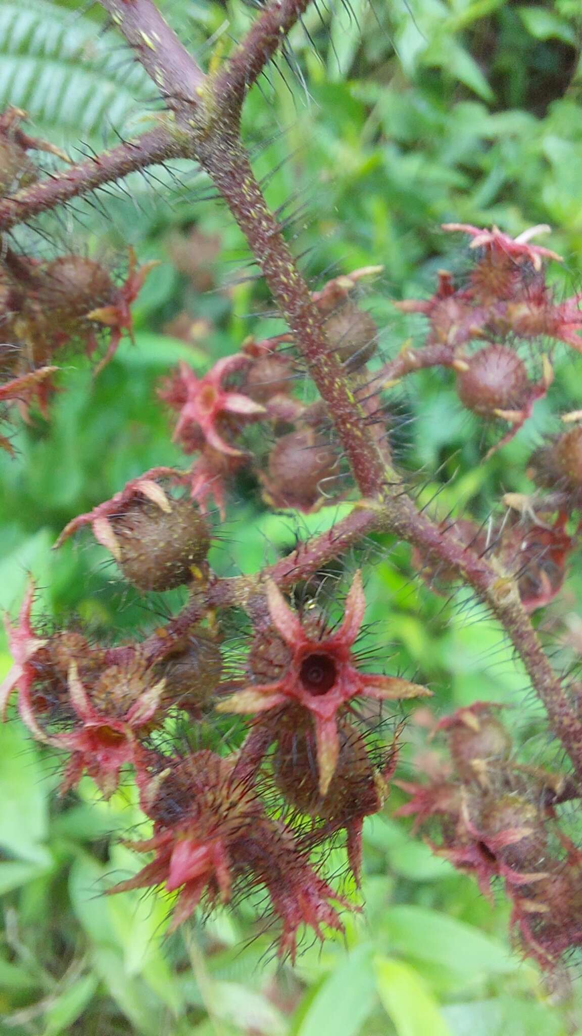
<svg viewBox="0 0 582 1036">
<path fill-rule="evenodd" d="M 299 1012 L 290 1036 L 356 1036 L 372 1011 L 375 983 L 372 969 L 374 948 L 357 946 L 319 985 L 307 1012 Z"/>
</svg>

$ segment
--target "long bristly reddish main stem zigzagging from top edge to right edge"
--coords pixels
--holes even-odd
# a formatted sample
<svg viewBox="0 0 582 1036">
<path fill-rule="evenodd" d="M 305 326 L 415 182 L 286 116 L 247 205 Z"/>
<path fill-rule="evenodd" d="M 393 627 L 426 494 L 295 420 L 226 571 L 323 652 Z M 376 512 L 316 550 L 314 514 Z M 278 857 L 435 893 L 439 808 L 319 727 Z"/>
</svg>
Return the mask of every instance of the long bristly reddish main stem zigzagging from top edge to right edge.
<svg viewBox="0 0 582 1036">
<path fill-rule="evenodd" d="M 122 0 L 101 2 L 111 10 L 112 7 L 117 9 Z M 132 5 L 126 6 L 132 6 L 137 11 L 142 4 L 150 9 L 146 0 L 135 0 L 135 7 L 133 0 Z M 215 81 L 217 92 L 212 94 L 213 104 L 206 98 L 206 111 L 198 122 L 196 117 L 192 119 L 194 152 L 223 195 L 261 266 L 273 297 L 305 358 L 314 382 L 327 404 L 362 496 L 375 497 L 378 501 L 380 497 L 383 498 L 381 508 L 378 503 L 381 519 L 379 517 L 377 527 L 396 534 L 453 565 L 461 578 L 491 607 L 520 655 L 546 706 L 552 725 L 556 727 L 557 736 L 575 768 L 582 774 L 582 723 L 574 715 L 560 681 L 552 672 L 520 604 L 513 580 L 496 572 L 485 559 L 467 551 L 464 544 L 453 536 L 443 534 L 425 515 L 418 514 L 398 473 L 385 465 L 366 424 L 363 411 L 354 400 L 349 377 L 330 351 L 321 330 L 321 318 L 308 285 L 264 200 L 240 144 L 236 107 L 234 112 L 226 107 L 229 97 L 236 102 L 245 86 L 256 80 L 266 61 L 285 39 L 286 32 L 307 6 L 307 3 L 299 0 L 274 0 L 263 11 L 227 63 L 224 73 L 219 74 Z M 132 42 L 127 23 L 122 21 L 120 29 Z M 176 60 L 174 37 L 171 34 L 167 54 L 163 38 L 161 37 L 156 47 L 155 62 L 156 66 L 166 67 L 169 74 Z M 141 56 L 141 52 L 139 53 Z M 146 67 L 151 65 L 149 56 L 144 64 Z M 199 75 L 194 64 L 193 69 L 192 75 Z M 203 94 L 204 91 L 199 93 Z M 345 544 L 339 542 L 340 551 L 343 546 Z M 292 565 L 294 567 L 293 563 Z M 295 568 L 294 578 L 297 577 Z M 210 592 L 211 599 L 214 595 L 222 596 L 220 586 L 221 583 L 214 592 Z M 237 584 L 237 593 L 240 591 L 240 584 Z M 249 587 L 245 588 L 245 595 L 248 594 Z M 242 604 L 243 601 L 231 603 Z M 219 604 L 219 601 L 214 604 Z M 180 617 L 174 622 L 180 622 Z"/>
</svg>

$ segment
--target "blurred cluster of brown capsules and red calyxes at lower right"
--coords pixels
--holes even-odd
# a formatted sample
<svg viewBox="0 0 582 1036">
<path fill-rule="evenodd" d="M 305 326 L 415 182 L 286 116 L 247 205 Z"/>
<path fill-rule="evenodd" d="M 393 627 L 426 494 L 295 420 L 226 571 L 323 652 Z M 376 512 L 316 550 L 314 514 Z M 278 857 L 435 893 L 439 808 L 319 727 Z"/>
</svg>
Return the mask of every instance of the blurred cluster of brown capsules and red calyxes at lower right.
<svg viewBox="0 0 582 1036">
<path fill-rule="evenodd" d="M 581 855 L 553 808 L 578 792 L 568 778 L 514 761 L 498 709 L 477 701 L 440 721 L 456 775 L 397 782 L 412 796 L 397 814 L 414 816 L 416 829 L 431 832 L 434 852 L 472 874 L 484 894 L 502 879 L 522 949 L 553 970 L 568 948 L 582 945 Z"/>
</svg>

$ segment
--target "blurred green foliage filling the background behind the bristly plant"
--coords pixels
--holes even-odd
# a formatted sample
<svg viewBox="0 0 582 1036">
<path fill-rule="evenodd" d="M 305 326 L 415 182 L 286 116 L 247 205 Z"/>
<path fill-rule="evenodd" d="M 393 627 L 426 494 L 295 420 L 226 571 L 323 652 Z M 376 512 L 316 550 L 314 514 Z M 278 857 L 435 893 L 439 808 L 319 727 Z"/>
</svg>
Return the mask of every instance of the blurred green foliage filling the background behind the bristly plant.
<svg viewBox="0 0 582 1036">
<path fill-rule="evenodd" d="M 239 0 L 165 0 L 172 24 L 203 61 L 239 38 L 254 12 Z M 0 107 L 29 111 L 33 132 L 74 156 L 136 132 L 155 118 L 152 88 L 103 34 L 99 11 L 74 0 L 6 2 L 0 9 Z M 367 305 L 390 353 L 414 322 L 390 300 L 430 291 L 436 269 L 458 260 L 439 225 L 498 224 L 517 234 L 554 229 L 565 257 L 556 291 L 582 272 L 582 11 L 579 0 L 351 0 L 318 5 L 292 33 L 249 97 L 244 135 L 270 203 L 293 217 L 289 233 L 302 264 L 322 278 L 382 264 Z M 210 45 L 207 40 L 211 39 Z M 244 242 L 208 184 L 181 164 L 135 174 L 99 207 L 76 204 L 59 224 L 27 230 L 23 243 L 47 254 L 79 248 L 119 267 L 128 243 L 159 258 L 136 306 L 137 345 L 123 343 L 94 382 L 70 358 L 50 423 L 19 428 L 14 460 L 0 455 L 0 604 L 18 606 L 32 571 L 39 616 L 75 612 L 104 635 L 148 629 L 180 595 L 128 593 L 88 538 L 51 551 L 74 515 L 108 498 L 154 464 L 180 463 L 155 385 L 178 358 L 205 367 L 242 338 L 279 329 Z M 107 219 L 104 218 L 107 212 Z M 221 252 L 188 277 L 176 234 L 219 235 Z M 49 231 L 45 234 L 45 231 Z M 197 239 L 200 241 L 200 239 Z M 196 258 L 195 243 L 192 246 Z M 446 257 L 446 258 L 445 258 Z M 177 267 L 182 267 L 182 271 Z M 186 312 L 185 344 L 164 333 Z M 175 325 L 174 325 L 175 326 Z M 535 359 L 535 357 L 533 357 Z M 553 429 L 556 401 L 580 406 L 579 374 L 565 348 L 555 357 L 550 402 L 487 464 L 484 431 L 463 413 L 448 376 L 425 372 L 395 402 L 396 441 L 423 502 L 437 513 L 470 505 L 486 519 L 502 491 L 528 487 L 525 462 Z M 413 420 L 412 420 L 413 419 Z M 487 437 L 487 436 L 486 436 Z M 214 550 L 224 574 L 255 571 L 295 538 L 331 524 L 342 506 L 304 518 L 265 512 L 256 486 L 241 484 Z M 388 643 L 395 667 L 426 681 L 438 710 L 478 698 L 516 710 L 532 757 L 547 745 L 543 717 L 500 631 L 467 595 L 436 599 L 411 578 L 408 548 L 365 549 L 371 640 Z M 345 559 L 349 569 L 355 557 Z M 576 611 L 573 575 L 562 612 Z M 556 649 L 559 652 L 559 648 Z M 559 654 L 558 654 L 559 659 Z M 0 655 L 0 674 L 9 664 Z M 414 743 L 414 730 L 410 739 Z M 574 990 L 552 992 L 512 953 L 508 909 L 486 902 L 468 877 L 432 856 L 391 817 L 367 824 L 365 912 L 347 918 L 345 941 L 305 946 L 297 968 L 281 969 L 252 904 L 220 912 L 182 939 L 164 938 L 167 902 L 138 893 L 106 898 L 111 875 L 139 866 L 119 844 L 141 824 L 135 789 L 96 801 L 90 781 L 56 799 L 54 760 L 16 723 L 0 727 L 0 1031 L 14 1036 L 138 1033 L 157 1036 L 572 1036 L 582 1032 Z M 336 851 L 334 851 L 336 852 Z M 341 854 L 329 866 L 341 871 Z M 577 978 L 576 969 L 571 976 Z"/>
</svg>

